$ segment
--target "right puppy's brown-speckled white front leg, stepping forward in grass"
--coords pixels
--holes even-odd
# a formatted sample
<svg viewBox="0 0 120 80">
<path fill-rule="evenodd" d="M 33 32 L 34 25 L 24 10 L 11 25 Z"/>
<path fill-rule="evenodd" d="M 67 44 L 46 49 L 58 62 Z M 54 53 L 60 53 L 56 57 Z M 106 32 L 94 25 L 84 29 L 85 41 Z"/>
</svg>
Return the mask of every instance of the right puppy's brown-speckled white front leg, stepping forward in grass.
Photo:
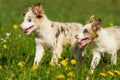
<svg viewBox="0 0 120 80">
<path fill-rule="evenodd" d="M 100 59 L 101 59 L 100 53 L 99 52 L 93 52 L 93 59 L 92 59 L 92 62 L 91 62 L 91 67 L 90 67 L 90 72 L 92 74 L 93 74 L 96 66 L 99 64 Z"/>
</svg>

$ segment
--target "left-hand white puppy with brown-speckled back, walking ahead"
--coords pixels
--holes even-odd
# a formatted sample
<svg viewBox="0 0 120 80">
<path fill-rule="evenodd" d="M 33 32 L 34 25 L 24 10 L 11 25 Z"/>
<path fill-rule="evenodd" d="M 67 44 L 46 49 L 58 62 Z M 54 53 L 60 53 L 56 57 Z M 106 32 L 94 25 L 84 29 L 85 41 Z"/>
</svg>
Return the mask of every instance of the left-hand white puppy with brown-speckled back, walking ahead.
<svg viewBox="0 0 120 80">
<path fill-rule="evenodd" d="M 36 43 L 34 64 L 39 64 L 46 48 L 53 50 L 51 61 L 55 64 L 58 64 L 58 57 L 61 56 L 64 45 L 70 44 L 74 49 L 73 53 L 80 54 L 80 48 L 76 47 L 78 44 L 76 44 L 75 35 L 80 32 L 82 25 L 49 20 L 40 3 L 25 9 L 24 21 L 20 28 L 26 35 L 34 31 Z"/>
</svg>

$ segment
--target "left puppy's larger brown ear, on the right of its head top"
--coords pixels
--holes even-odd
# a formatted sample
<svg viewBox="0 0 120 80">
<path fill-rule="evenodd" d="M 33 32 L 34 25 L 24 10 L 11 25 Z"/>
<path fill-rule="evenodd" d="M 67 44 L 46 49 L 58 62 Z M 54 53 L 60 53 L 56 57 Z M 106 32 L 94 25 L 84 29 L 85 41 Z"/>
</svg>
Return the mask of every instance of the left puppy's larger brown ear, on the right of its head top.
<svg viewBox="0 0 120 80">
<path fill-rule="evenodd" d="M 42 8 L 41 3 L 34 4 L 32 10 L 33 10 L 35 15 L 44 14 L 44 10 Z"/>
</svg>

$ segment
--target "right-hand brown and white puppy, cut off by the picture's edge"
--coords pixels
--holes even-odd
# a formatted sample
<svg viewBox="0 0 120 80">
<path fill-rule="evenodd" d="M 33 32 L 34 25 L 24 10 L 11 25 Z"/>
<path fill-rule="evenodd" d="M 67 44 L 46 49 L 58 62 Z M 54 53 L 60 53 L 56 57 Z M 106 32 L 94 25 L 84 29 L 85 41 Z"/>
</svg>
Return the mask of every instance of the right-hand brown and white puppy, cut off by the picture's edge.
<svg viewBox="0 0 120 80">
<path fill-rule="evenodd" d="M 117 50 L 120 49 L 120 27 L 102 28 L 101 24 L 101 19 L 95 21 L 92 16 L 76 37 L 81 47 L 91 43 L 93 54 L 91 73 L 94 72 L 104 53 L 111 54 L 111 62 L 116 65 Z"/>
</svg>

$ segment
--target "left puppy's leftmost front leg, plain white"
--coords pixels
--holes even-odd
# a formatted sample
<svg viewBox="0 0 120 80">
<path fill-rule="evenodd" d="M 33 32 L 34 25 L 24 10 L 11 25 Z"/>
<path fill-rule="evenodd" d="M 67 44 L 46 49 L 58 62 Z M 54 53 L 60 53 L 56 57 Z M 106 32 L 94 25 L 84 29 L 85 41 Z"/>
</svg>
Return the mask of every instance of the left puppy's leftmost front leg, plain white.
<svg viewBox="0 0 120 80">
<path fill-rule="evenodd" d="M 34 65 L 37 64 L 39 65 L 43 55 L 44 55 L 44 48 L 40 42 L 37 40 L 36 42 L 36 53 L 35 53 L 35 58 L 34 58 Z"/>
</svg>

